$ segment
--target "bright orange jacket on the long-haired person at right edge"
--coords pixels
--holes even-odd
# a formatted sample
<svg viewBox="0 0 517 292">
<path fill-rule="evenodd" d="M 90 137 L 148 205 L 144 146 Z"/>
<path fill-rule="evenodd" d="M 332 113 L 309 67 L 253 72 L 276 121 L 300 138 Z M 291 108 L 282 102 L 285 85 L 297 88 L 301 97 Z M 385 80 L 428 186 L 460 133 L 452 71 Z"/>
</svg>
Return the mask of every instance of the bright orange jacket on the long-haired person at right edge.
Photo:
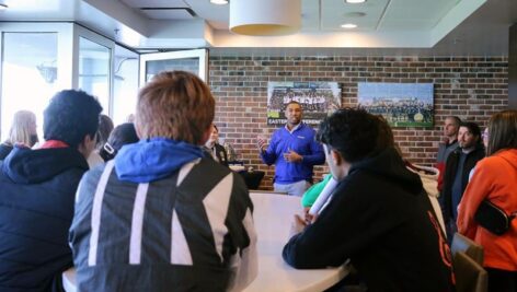
<svg viewBox="0 0 517 292">
<path fill-rule="evenodd" d="M 481 227 L 474 213 L 489 199 L 507 214 L 517 211 L 517 149 L 502 150 L 478 162 L 458 207 L 458 232 L 484 247 L 484 266 L 517 271 L 517 219 L 503 235 Z"/>
</svg>

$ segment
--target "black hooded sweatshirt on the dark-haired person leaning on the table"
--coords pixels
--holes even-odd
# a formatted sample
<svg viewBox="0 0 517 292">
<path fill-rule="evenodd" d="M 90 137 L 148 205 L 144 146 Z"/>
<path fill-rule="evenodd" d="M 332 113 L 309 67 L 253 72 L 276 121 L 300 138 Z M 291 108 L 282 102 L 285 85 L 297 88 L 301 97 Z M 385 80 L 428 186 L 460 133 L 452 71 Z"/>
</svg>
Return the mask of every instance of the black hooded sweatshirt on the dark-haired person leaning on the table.
<svg viewBox="0 0 517 292">
<path fill-rule="evenodd" d="M 433 207 L 394 149 L 354 163 L 283 257 L 299 269 L 349 258 L 368 291 L 453 291 L 450 250 Z"/>
</svg>

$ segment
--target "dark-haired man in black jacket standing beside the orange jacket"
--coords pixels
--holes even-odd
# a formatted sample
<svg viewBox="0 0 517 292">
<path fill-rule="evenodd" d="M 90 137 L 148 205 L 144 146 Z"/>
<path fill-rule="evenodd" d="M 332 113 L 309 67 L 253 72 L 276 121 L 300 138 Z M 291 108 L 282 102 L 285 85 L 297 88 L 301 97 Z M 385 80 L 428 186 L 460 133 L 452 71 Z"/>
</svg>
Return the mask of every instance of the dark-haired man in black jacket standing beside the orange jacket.
<svg viewBox="0 0 517 292">
<path fill-rule="evenodd" d="M 458 131 L 458 148 L 447 159 L 444 188 L 439 197 L 449 241 L 452 241 L 452 235 L 457 231 L 458 205 L 469 183 L 470 171 L 484 156 L 485 150 L 478 124 L 472 121 L 461 122 Z"/>
</svg>

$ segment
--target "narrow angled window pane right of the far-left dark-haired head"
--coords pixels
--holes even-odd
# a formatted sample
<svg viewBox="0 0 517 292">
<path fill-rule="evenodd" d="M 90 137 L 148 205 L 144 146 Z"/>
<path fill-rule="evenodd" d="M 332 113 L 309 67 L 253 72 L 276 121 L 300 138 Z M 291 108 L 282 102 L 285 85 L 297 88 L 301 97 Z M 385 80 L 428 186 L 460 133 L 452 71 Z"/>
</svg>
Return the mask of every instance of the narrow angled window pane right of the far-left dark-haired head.
<svg viewBox="0 0 517 292">
<path fill-rule="evenodd" d="M 79 38 L 79 89 L 94 95 L 110 113 L 111 49 L 84 37 Z"/>
</svg>

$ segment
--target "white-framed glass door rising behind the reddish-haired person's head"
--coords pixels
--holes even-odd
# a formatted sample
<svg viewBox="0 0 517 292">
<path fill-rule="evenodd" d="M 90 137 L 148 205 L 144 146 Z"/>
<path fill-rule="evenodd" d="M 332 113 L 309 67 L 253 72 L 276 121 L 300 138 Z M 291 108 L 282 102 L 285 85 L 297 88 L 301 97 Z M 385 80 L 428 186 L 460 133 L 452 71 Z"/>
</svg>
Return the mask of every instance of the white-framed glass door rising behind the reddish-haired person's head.
<svg viewBox="0 0 517 292">
<path fill-rule="evenodd" d="M 140 87 L 162 71 L 183 70 L 207 82 L 208 50 L 193 49 L 140 55 Z"/>
</svg>

